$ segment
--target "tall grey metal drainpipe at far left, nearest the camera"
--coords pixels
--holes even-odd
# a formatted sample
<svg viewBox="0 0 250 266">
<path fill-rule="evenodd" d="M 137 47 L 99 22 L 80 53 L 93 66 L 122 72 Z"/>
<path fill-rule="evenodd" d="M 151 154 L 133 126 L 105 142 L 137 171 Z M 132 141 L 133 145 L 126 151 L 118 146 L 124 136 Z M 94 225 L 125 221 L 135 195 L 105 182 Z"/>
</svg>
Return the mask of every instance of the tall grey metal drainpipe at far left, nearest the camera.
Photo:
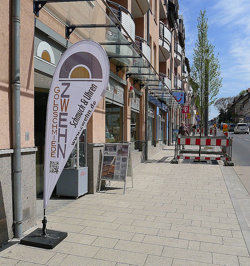
<svg viewBox="0 0 250 266">
<path fill-rule="evenodd" d="M 12 0 L 11 19 L 11 89 L 12 89 L 12 155 L 13 231 L 22 238 L 22 183 L 20 138 L 20 0 Z"/>
</svg>

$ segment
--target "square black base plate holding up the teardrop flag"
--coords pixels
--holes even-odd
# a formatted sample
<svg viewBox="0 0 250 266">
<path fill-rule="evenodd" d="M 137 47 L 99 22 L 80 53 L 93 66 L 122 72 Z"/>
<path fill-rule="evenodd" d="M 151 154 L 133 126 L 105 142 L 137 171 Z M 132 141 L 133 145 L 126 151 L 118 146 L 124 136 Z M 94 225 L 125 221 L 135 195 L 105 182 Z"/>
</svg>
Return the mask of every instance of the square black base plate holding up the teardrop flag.
<svg viewBox="0 0 250 266">
<path fill-rule="evenodd" d="M 67 232 L 61 232 L 49 229 L 47 229 L 46 233 L 47 235 L 50 236 L 50 238 L 41 237 L 40 235 L 42 234 L 42 228 L 37 228 L 32 233 L 22 238 L 20 240 L 20 244 L 37 248 L 53 249 L 60 242 L 62 242 L 64 238 L 68 236 Z M 57 239 L 53 239 L 52 237 Z"/>
</svg>

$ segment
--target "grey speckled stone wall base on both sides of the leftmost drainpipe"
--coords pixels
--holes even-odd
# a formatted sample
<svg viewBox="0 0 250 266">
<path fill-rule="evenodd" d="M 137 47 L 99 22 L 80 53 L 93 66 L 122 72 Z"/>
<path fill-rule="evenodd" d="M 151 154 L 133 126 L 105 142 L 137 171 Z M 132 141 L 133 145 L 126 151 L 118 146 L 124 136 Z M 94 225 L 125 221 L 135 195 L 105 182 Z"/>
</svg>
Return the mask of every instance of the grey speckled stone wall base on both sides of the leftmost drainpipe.
<svg viewBox="0 0 250 266">
<path fill-rule="evenodd" d="M 12 154 L 0 154 L 0 245 L 13 237 L 12 223 Z M 36 156 L 35 152 L 21 153 L 22 168 L 22 229 L 36 224 Z"/>
</svg>

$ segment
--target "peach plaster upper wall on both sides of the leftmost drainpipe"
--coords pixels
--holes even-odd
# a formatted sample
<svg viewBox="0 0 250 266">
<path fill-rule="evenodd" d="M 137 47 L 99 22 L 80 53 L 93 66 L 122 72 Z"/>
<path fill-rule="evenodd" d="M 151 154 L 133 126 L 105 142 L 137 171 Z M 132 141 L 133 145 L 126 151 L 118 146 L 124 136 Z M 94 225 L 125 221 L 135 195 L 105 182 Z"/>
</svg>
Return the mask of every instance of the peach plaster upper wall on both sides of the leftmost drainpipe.
<svg viewBox="0 0 250 266">
<path fill-rule="evenodd" d="M 11 94 L 11 14 L 9 1 L 3 1 L 1 16 L 0 48 L 0 149 L 12 148 L 12 94 Z M 34 147 L 34 73 L 33 39 L 34 14 L 33 2 L 21 1 L 20 11 L 20 115 L 21 147 Z M 6 31 L 6 29 L 9 29 Z M 30 132 L 30 140 L 25 141 L 25 131 Z"/>
</svg>

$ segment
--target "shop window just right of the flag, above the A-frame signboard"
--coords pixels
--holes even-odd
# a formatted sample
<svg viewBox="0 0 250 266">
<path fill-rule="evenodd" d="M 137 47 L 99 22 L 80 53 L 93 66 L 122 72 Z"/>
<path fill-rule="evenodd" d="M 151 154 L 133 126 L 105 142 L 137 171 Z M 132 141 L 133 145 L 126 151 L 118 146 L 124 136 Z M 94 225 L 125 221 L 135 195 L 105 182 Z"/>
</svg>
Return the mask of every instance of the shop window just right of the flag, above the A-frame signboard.
<svg viewBox="0 0 250 266">
<path fill-rule="evenodd" d="M 106 101 L 105 137 L 106 142 L 123 141 L 123 108 Z"/>
</svg>

